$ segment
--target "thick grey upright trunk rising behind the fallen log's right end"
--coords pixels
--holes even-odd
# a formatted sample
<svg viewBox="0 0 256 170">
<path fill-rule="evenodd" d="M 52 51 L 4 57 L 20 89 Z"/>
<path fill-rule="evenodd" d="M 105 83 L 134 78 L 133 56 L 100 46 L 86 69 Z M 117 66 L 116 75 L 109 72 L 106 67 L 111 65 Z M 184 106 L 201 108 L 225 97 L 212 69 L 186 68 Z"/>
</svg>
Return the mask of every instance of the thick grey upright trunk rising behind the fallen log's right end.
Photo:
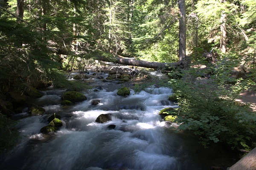
<svg viewBox="0 0 256 170">
<path fill-rule="evenodd" d="M 179 61 L 186 57 L 186 7 L 185 0 L 179 0 Z"/>
</svg>

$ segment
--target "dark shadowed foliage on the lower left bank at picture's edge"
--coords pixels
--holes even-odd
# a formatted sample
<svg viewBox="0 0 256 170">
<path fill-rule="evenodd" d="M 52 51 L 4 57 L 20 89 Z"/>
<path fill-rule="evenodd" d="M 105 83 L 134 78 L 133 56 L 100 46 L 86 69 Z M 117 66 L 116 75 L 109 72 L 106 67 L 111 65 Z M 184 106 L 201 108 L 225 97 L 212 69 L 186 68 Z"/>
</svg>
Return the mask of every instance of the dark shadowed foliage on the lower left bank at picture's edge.
<svg viewBox="0 0 256 170">
<path fill-rule="evenodd" d="M 0 153 L 11 150 L 18 142 L 19 133 L 14 128 L 16 122 L 0 113 Z"/>
</svg>

